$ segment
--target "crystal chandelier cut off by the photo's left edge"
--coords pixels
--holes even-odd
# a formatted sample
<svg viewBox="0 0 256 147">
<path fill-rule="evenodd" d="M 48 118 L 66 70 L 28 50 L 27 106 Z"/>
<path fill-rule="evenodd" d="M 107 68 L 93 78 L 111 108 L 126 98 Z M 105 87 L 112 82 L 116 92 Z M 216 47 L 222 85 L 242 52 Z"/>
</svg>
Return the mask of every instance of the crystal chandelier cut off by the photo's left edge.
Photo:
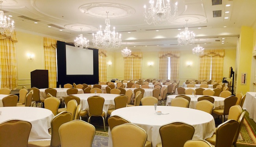
<svg viewBox="0 0 256 147">
<path fill-rule="evenodd" d="M 10 22 L 10 18 L 6 17 L 4 15 L 4 11 L 2 11 L 2 2 L 3 1 L 0 1 L 0 33 L 2 35 L 6 35 L 6 36 L 11 36 L 11 34 L 13 33 L 13 30 L 14 30 L 14 21 L 11 21 Z M 8 21 L 6 21 L 6 19 Z"/>
</svg>

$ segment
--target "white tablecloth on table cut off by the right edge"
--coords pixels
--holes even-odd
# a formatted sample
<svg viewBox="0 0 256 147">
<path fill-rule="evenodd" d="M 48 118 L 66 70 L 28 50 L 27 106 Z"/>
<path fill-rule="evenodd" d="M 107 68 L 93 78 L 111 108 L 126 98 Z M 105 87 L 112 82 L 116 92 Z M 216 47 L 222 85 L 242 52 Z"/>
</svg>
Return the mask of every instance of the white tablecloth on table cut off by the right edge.
<svg viewBox="0 0 256 147">
<path fill-rule="evenodd" d="M 256 92 L 247 92 L 245 102 L 243 103 L 243 109 L 246 109 L 249 113 L 249 118 L 256 122 Z"/>
</svg>

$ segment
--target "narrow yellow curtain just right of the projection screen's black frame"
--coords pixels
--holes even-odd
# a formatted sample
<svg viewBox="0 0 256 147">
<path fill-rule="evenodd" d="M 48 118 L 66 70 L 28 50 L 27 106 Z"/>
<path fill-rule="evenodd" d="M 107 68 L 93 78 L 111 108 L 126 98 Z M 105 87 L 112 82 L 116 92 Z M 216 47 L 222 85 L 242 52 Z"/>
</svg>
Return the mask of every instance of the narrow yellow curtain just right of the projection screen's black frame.
<svg viewBox="0 0 256 147">
<path fill-rule="evenodd" d="M 98 50 L 98 57 L 99 57 L 99 81 L 107 82 L 107 65 L 106 65 L 106 57 L 107 51 L 106 50 Z"/>
</svg>

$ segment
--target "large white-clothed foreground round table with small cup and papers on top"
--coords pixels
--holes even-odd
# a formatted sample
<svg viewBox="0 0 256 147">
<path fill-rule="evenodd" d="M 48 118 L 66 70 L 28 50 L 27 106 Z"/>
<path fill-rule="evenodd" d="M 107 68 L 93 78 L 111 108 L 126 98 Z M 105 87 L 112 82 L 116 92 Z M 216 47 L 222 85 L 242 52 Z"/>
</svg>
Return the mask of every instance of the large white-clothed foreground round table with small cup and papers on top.
<svg viewBox="0 0 256 147">
<path fill-rule="evenodd" d="M 195 128 L 193 140 L 204 140 L 213 135 L 215 121 L 209 113 L 196 109 L 171 106 L 157 106 L 156 111 L 162 111 L 165 115 L 155 114 L 154 106 L 135 106 L 114 110 L 111 116 L 122 116 L 131 123 L 143 128 L 148 134 L 148 141 L 152 142 L 152 147 L 156 147 L 158 143 L 161 143 L 160 127 L 176 121 L 188 123 Z M 108 130 L 108 134 L 108 147 L 112 147 L 110 129 Z"/>
</svg>

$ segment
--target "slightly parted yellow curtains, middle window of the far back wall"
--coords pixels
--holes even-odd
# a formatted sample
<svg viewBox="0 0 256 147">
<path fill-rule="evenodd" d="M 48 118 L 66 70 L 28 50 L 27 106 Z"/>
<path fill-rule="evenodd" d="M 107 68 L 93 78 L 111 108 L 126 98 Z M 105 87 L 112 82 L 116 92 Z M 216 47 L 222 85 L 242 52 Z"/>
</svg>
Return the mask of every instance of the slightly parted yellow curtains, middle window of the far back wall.
<svg viewBox="0 0 256 147">
<path fill-rule="evenodd" d="M 159 53 L 159 78 L 167 80 L 168 78 L 168 57 L 170 57 L 170 69 L 171 69 L 171 79 L 179 79 L 179 65 L 180 65 L 180 51 L 162 51 Z"/>
</svg>

